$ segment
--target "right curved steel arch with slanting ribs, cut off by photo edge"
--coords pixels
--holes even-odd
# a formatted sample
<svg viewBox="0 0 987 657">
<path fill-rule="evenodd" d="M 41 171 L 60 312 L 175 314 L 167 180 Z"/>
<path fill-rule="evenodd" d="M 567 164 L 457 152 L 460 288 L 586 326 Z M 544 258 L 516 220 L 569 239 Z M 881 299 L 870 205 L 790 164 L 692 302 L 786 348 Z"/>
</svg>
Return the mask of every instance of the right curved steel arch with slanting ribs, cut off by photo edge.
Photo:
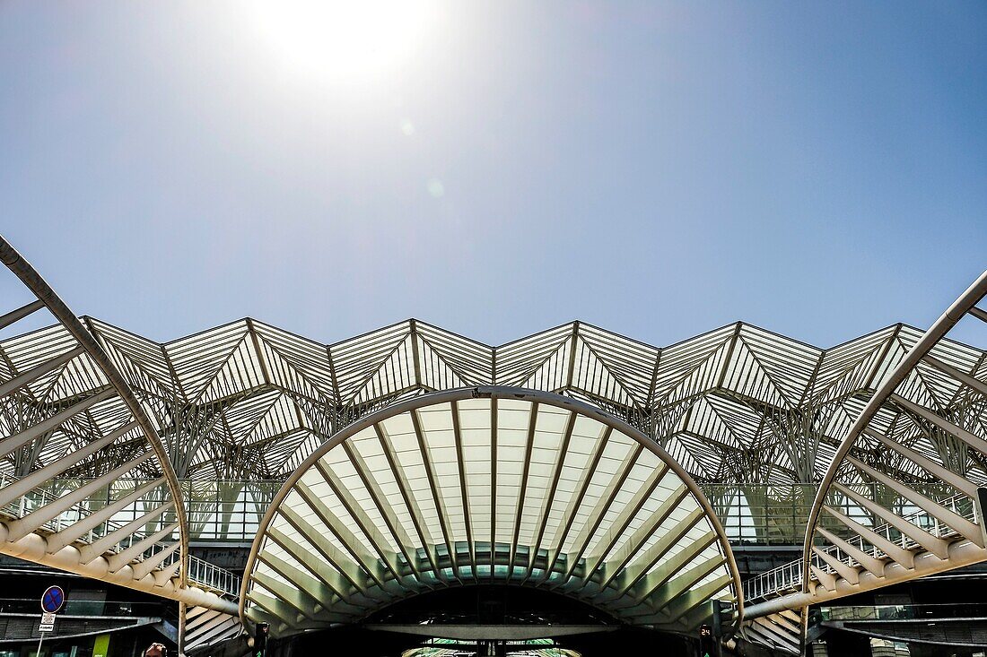
<svg viewBox="0 0 987 657">
<path fill-rule="evenodd" d="M 809 605 L 987 560 L 987 362 L 946 339 L 987 323 L 985 294 L 987 272 L 883 378 L 822 477 L 803 558 L 748 587 L 769 598 L 747 609 L 748 638 L 797 653 Z"/>
</svg>

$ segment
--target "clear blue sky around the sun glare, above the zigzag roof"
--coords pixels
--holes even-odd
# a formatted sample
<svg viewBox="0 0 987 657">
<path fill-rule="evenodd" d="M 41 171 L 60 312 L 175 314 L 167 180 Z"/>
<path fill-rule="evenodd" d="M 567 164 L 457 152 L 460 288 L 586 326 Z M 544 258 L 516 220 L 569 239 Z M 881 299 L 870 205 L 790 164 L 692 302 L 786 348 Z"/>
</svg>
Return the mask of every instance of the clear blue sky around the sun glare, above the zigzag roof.
<svg viewBox="0 0 987 657">
<path fill-rule="evenodd" d="M 928 326 L 987 266 L 983 3 L 421 11 L 413 51 L 338 79 L 242 3 L 0 3 L 3 234 L 160 340 L 829 346 Z"/>
</svg>

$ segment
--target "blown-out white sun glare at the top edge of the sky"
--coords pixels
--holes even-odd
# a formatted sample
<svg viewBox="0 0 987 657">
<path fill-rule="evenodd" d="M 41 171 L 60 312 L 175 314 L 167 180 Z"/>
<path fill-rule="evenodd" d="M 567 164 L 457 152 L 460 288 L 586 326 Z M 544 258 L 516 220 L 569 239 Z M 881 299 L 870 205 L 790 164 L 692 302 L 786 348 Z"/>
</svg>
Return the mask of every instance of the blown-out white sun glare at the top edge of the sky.
<svg viewBox="0 0 987 657">
<path fill-rule="evenodd" d="M 433 2 L 261 0 L 253 19 L 293 71 L 331 81 L 376 78 L 414 63 L 434 28 Z"/>
</svg>

